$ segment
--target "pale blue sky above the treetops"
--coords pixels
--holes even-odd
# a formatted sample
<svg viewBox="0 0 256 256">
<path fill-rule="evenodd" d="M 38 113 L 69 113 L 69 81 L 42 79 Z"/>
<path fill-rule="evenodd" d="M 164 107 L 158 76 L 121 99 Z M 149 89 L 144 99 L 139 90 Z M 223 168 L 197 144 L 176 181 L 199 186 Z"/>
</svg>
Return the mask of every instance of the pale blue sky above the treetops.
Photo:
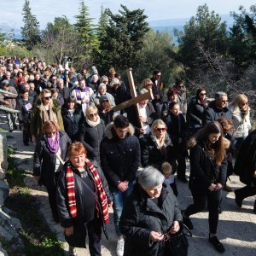
<svg viewBox="0 0 256 256">
<path fill-rule="evenodd" d="M 79 3 L 81 0 L 30 0 L 32 14 L 36 15 L 41 29 L 48 22 L 53 22 L 55 17 L 66 15 L 73 24 L 75 15 L 79 14 Z M 20 28 L 22 22 L 22 7 L 25 0 L 1 0 L 0 4 L 0 27 L 2 24 Z M 96 24 L 103 8 L 110 9 L 114 14 L 118 13 L 120 4 L 128 9 L 144 9 L 144 14 L 151 20 L 169 20 L 179 18 L 190 18 L 196 14 L 198 6 L 207 3 L 210 11 L 214 10 L 218 15 L 229 15 L 231 11 L 238 13 L 240 5 L 247 11 L 255 4 L 253 0 L 84 0 L 89 8 L 90 17 L 94 18 Z"/>
</svg>

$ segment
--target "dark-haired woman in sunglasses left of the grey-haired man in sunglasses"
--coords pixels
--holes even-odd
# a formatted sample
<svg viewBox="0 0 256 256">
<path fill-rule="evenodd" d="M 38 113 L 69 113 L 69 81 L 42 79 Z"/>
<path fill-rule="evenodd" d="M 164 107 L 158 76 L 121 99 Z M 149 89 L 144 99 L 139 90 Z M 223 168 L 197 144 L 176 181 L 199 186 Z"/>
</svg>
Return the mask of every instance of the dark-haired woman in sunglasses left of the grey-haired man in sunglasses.
<svg viewBox="0 0 256 256">
<path fill-rule="evenodd" d="M 207 108 L 207 91 L 204 88 L 196 90 L 196 94 L 189 101 L 187 112 L 187 123 L 189 127 L 189 136 L 195 134 L 202 127 L 202 113 Z"/>
</svg>

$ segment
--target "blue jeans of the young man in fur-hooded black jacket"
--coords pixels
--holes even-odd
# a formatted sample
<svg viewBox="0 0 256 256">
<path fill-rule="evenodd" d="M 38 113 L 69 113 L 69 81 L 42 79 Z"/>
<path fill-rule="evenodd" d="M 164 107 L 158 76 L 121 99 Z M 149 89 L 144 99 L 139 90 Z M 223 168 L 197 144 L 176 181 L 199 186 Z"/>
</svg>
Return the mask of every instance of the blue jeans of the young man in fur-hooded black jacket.
<svg viewBox="0 0 256 256">
<path fill-rule="evenodd" d="M 123 211 L 123 205 L 125 199 L 128 195 L 131 194 L 133 189 L 133 183 L 129 183 L 129 187 L 125 192 L 120 191 L 118 188 L 113 188 L 109 186 L 110 192 L 113 196 L 113 223 L 117 236 L 122 236 L 122 233 L 119 231 L 119 219 Z"/>
</svg>

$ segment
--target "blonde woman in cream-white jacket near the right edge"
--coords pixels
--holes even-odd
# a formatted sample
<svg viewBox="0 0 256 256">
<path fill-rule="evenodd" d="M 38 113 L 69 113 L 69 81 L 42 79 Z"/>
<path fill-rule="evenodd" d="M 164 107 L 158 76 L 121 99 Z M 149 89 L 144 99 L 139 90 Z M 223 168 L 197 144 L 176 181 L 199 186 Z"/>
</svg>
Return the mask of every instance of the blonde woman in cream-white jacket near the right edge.
<svg viewBox="0 0 256 256">
<path fill-rule="evenodd" d="M 235 139 L 232 142 L 233 149 L 239 149 L 251 129 L 250 108 L 247 96 L 238 94 L 230 104 L 232 112 L 233 126 L 235 129 Z"/>
</svg>

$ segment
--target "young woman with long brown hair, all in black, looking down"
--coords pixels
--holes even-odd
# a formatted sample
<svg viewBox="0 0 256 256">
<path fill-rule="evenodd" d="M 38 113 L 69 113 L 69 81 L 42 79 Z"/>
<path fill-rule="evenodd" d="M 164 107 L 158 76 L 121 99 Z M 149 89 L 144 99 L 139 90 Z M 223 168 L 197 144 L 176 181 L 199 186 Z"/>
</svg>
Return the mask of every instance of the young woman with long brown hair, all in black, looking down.
<svg viewBox="0 0 256 256">
<path fill-rule="evenodd" d="M 183 211 L 183 223 L 192 230 L 193 224 L 189 216 L 202 212 L 207 203 L 209 241 L 218 253 L 224 253 L 225 248 L 216 236 L 218 207 L 227 173 L 222 126 L 217 121 L 205 125 L 189 139 L 188 145 L 189 189 L 194 202 Z"/>
</svg>

